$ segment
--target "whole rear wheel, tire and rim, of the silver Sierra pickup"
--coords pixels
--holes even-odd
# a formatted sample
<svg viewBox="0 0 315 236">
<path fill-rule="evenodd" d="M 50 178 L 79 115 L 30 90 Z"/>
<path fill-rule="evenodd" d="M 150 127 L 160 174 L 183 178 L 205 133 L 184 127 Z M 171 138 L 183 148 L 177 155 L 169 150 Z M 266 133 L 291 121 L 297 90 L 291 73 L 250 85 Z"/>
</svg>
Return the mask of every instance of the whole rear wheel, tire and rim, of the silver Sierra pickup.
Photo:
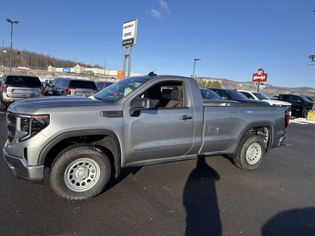
<svg viewBox="0 0 315 236">
<path fill-rule="evenodd" d="M 236 151 L 234 163 L 243 170 L 252 171 L 261 164 L 264 155 L 264 141 L 257 134 L 246 134 Z"/>
</svg>

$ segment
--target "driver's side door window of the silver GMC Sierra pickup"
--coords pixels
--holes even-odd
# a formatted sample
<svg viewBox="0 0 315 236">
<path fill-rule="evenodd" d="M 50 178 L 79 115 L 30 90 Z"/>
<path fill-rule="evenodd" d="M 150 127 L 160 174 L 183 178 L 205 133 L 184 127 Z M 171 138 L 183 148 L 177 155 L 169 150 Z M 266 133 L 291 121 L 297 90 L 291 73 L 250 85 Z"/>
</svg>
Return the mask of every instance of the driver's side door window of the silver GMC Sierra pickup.
<svg viewBox="0 0 315 236">
<path fill-rule="evenodd" d="M 186 107 L 184 82 L 180 81 L 158 83 L 140 94 L 140 96 L 151 98 L 153 100 L 153 106 L 156 108 Z"/>
</svg>

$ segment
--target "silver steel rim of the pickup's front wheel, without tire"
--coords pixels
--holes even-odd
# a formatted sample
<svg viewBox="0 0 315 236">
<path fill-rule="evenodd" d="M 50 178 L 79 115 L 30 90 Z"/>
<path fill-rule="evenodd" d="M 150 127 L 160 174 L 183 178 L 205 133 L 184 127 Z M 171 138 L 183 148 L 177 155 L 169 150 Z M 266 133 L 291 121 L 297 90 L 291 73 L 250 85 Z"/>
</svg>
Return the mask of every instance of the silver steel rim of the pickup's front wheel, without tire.
<svg viewBox="0 0 315 236">
<path fill-rule="evenodd" d="M 100 168 L 90 158 L 80 158 L 68 165 L 64 172 L 65 185 L 74 192 L 91 189 L 98 181 Z"/>
</svg>

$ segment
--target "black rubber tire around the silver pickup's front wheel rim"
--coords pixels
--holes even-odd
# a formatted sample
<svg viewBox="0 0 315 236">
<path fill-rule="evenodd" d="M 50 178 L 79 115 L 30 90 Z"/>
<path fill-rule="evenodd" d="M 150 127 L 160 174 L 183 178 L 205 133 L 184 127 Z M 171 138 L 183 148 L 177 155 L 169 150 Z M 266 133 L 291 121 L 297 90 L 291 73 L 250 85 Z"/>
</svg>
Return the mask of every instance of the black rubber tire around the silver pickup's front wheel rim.
<svg viewBox="0 0 315 236">
<path fill-rule="evenodd" d="M 69 165 L 80 158 L 89 158 L 97 163 L 99 166 L 99 174 L 92 188 L 77 192 L 66 185 L 64 176 Z M 90 173 L 87 175 L 89 176 Z M 54 160 L 49 173 L 49 182 L 53 191 L 59 197 L 68 201 L 82 201 L 91 199 L 101 193 L 110 176 L 111 164 L 103 151 L 90 144 L 74 144 L 63 149 Z"/>
</svg>

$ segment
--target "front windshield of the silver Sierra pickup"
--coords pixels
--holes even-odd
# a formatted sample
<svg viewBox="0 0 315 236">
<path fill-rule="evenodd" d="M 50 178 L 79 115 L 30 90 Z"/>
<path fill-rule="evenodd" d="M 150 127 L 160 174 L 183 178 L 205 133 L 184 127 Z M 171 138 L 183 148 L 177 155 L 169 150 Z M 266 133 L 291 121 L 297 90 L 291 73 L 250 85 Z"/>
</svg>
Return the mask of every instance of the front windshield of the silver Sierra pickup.
<svg viewBox="0 0 315 236">
<path fill-rule="evenodd" d="M 105 89 L 94 94 L 97 99 L 105 100 L 105 102 L 116 102 L 125 97 L 133 89 L 148 81 L 149 77 L 130 77 L 116 82 Z"/>
</svg>

